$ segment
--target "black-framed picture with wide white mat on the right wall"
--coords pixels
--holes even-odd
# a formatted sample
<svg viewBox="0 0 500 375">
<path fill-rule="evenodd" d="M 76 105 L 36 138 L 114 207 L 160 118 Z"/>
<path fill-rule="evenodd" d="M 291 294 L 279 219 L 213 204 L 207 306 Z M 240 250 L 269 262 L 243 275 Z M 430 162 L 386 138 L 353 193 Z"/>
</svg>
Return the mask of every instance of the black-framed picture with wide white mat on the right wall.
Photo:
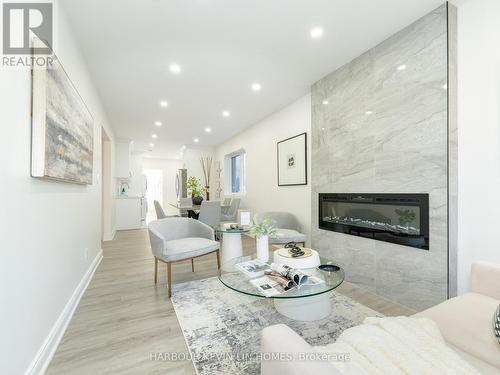
<svg viewBox="0 0 500 375">
<path fill-rule="evenodd" d="M 307 185 L 307 133 L 278 142 L 278 186 Z"/>
</svg>

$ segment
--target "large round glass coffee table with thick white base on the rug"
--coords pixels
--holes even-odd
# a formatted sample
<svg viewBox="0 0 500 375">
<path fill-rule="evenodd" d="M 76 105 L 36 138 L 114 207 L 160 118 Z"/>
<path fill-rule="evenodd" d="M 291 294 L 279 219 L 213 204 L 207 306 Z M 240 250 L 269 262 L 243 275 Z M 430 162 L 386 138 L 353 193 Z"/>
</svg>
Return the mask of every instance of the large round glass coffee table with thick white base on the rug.
<svg viewBox="0 0 500 375">
<path fill-rule="evenodd" d="M 274 252 L 270 252 L 269 259 L 273 259 Z M 255 260 L 257 256 L 240 256 L 223 262 L 219 280 L 226 287 L 249 296 L 273 299 L 274 306 L 281 314 L 295 320 L 312 321 L 327 317 L 331 312 L 329 292 L 337 288 L 344 281 L 344 270 L 339 267 L 336 272 L 326 273 L 317 267 L 299 268 L 302 272 L 320 280 L 315 285 L 294 287 L 281 294 L 266 296 L 254 282 L 264 277 L 263 272 L 249 274 L 242 269 L 242 264 Z M 297 258 L 293 259 L 295 262 Z M 333 264 L 330 260 L 320 257 L 321 264 Z M 270 263 L 270 262 L 268 262 Z M 246 263 L 248 264 L 248 263 Z"/>
</svg>

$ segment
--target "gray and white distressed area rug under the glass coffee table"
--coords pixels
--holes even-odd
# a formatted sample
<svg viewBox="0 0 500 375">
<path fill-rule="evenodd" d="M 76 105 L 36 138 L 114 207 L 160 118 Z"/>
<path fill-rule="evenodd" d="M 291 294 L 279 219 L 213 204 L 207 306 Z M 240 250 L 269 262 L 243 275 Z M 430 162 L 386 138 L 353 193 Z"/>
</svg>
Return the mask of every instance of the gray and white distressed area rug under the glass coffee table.
<svg viewBox="0 0 500 375">
<path fill-rule="evenodd" d="M 172 302 L 199 375 L 257 375 L 260 333 L 284 323 L 311 345 L 333 342 L 347 328 L 376 311 L 339 293 L 331 293 L 332 313 L 314 322 L 291 320 L 265 298 L 225 287 L 217 277 L 173 286 Z"/>
</svg>

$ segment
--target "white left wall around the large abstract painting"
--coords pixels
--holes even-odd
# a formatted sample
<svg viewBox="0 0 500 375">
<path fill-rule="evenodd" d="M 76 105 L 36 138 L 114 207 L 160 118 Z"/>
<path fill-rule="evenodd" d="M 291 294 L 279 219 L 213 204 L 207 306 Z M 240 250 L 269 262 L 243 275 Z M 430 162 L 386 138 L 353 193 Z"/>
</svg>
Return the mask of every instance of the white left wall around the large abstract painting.
<svg viewBox="0 0 500 375">
<path fill-rule="evenodd" d="M 94 179 L 80 186 L 30 177 L 30 72 L 0 69 L 2 374 L 25 373 L 50 345 L 51 329 L 101 252 L 101 125 L 114 137 L 66 17 L 56 9 L 56 53 L 95 118 Z"/>
</svg>

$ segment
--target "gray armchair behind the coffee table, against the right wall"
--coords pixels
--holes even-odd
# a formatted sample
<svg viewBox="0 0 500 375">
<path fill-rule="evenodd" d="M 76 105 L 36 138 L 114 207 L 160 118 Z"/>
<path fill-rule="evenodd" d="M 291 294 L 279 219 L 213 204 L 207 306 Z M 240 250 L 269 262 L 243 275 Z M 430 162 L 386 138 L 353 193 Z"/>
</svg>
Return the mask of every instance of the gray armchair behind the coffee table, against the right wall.
<svg viewBox="0 0 500 375">
<path fill-rule="evenodd" d="M 307 236 L 300 232 L 299 221 L 293 214 L 289 212 L 263 212 L 256 214 L 254 220 L 256 223 L 261 223 L 266 217 L 278 229 L 276 236 L 269 237 L 269 243 L 285 244 L 293 241 L 306 245 Z"/>
</svg>

